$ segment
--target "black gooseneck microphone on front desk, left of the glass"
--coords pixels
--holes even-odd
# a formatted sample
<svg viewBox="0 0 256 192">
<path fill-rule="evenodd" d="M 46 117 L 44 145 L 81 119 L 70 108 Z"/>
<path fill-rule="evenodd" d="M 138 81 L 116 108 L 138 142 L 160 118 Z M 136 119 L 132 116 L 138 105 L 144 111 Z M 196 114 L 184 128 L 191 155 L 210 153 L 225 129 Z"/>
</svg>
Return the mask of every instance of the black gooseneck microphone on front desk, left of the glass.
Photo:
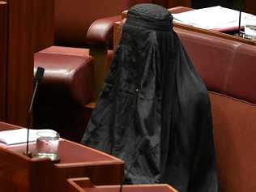
<svg viewBox="0 0 256 192">
<path fill-rule="evenodd" d="M 34 77 L 35 87 L 34 87 L 34 91 L 33 91 L 33 94 L 32 94 L 31 103 L 30 103 L 29 109 L 28 109 L 28 132 L 27 132 L 27 146 L 26 146 L 26 152 L 25 152 L 25 156 L 28 156 L 28 157 L 32 157 L 32 154 L 28 151 L 29 129 L 30 129 L 30 126 L 32 124 L 32 121 L 31 121 L 31 118 L 32 118 L 32 106 L 33 106 L 34 99 L 35 99 L 35 96 L 36 96 L 36 91 L 37 91 L 38 84 L 41 82 L 41 79 L 43 79 L 44 73 L 45 73 L 45 69 L 44 68 L 42 68 L 40 66 L 37 67 L 36 75 Z"/>
</svg>

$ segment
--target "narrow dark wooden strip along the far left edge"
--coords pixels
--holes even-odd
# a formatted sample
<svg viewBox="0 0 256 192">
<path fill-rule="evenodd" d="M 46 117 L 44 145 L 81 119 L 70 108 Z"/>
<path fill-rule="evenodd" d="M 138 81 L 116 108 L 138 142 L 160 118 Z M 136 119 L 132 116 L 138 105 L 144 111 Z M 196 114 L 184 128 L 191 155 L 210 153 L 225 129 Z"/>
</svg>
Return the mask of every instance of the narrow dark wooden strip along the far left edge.
<svg viewBox="0 0 256 192">
<path fill-rule="evenodd" d="M 0 1 L 0 121 L 6 118 L 7 4 Z"/>
</svg>

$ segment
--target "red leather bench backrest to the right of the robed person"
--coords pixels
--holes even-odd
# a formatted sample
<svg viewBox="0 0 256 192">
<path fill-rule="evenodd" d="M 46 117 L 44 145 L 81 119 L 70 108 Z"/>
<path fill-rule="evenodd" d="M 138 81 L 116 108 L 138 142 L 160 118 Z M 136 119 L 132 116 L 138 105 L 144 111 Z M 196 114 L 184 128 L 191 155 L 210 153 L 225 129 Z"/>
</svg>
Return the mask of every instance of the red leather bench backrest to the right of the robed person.
<svg viewBox="0 0 256 192">
<path fill-rule="evenodd" d="M 256 191 L 256 46 L 175 30 L 210 91 L 221 191 Z"/>
</svg>

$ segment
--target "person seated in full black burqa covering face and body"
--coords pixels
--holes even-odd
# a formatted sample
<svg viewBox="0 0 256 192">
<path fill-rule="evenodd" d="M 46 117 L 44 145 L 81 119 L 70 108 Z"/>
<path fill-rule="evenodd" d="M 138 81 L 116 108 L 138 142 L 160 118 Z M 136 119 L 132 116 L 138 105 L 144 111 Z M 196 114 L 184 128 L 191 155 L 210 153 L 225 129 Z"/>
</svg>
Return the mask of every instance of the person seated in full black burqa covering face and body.
<svg viewBox="0 0 256 192">
<path fill-rule="evenodd" d="M 125 182 L 217 192 L 207 88 L 162 6 L 128 11 L 82 143 L 125 161 Z"/>
</svg>

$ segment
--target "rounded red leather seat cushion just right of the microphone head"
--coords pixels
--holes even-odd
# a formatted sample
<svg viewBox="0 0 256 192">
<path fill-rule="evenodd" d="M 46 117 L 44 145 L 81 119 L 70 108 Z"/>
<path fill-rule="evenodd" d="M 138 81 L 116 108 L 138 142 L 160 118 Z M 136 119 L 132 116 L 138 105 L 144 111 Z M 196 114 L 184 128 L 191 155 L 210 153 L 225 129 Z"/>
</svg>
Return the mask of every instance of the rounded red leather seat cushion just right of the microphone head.
<svg viewBox="0 0 256 192">
<path fill-rule="evenodd" d="M 92 100 L 93 60 L 86 54 L 83 56 L 86 49 L 70 49 L 65 53 L 67 49 L 58 49 L 62 53 L 48 49 L 35 54 L 35 70 L 36 66 L 45 68 L 37 94 L 41 104 L 85 105 Z"/>
</svg>

